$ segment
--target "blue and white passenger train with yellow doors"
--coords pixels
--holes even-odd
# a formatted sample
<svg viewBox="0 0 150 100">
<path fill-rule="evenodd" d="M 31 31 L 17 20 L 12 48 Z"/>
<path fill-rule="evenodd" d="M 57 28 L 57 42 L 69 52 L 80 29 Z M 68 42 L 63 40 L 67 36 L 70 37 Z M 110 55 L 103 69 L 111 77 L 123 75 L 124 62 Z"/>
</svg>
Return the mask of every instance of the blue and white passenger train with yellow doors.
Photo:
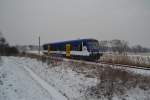
<svg viewBox="0 0 150 100">
<path fill-rule="evenodd" d="M 43 53 L 71 59 L 98 60 L 102 56 L 95 39 L 77 39 L 43 45 Z"/>
</svg>

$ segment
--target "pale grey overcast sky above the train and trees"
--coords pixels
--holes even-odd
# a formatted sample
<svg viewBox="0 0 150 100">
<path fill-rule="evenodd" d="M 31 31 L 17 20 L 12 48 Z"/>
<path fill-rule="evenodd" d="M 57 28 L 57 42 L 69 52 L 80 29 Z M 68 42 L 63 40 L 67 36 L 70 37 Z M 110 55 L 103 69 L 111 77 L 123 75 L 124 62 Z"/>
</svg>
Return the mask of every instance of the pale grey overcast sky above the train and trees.
<svg viewBox="0 0 150 100">
<path fill-rule="evenodd" d="M 150 0 L 0 0 L 0 31 L 12 44 L 96 38 L 150 47 Z"/>
</svg>

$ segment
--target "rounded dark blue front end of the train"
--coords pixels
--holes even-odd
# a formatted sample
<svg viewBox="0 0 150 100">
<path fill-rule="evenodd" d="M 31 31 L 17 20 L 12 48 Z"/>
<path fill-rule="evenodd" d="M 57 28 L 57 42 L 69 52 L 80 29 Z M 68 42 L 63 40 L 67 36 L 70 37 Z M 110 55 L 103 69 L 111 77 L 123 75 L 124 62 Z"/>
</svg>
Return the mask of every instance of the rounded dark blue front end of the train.
<svg viewBox="0 0 150 100">
<path fill-rule="evenodd" d="M 102 52 L 100 51 L 99 42 L 97 40 L 87 41 L 87 49 L 90 54 L 90 59 L 98 60 L 102 56 Z"/>
</svg>

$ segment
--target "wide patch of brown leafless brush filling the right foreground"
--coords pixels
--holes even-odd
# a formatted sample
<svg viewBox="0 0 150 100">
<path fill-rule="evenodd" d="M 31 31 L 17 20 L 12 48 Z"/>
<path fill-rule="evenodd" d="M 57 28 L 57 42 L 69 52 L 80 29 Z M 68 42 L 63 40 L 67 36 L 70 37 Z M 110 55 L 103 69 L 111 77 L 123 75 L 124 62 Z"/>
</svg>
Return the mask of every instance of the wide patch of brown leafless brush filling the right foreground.
<svg viewBox="0 0 150 100">
<path fill-rule="evenodd" d="M 107 66 L 98 67 L 98 84 L 88 89 L 88 95 L 97 98 L 112 100 L 114 95 L 124 95 L 129 89 L 139 87 L 142 90 L 150 89 L 150 78 L 135 75 L 124 69 Z"/>
</svg>

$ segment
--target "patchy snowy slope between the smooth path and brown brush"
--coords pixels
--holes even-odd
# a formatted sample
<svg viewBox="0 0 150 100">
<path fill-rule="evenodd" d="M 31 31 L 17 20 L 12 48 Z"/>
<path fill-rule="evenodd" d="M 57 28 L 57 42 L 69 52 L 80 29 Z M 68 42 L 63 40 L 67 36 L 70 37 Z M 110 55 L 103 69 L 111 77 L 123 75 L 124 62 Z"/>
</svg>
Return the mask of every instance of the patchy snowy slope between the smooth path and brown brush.
<svg viewBox="0 0 150 100">
<path fill-rule="evenodd" d="M 18 60 L 18 58 L 13 59 Z M 84 74 L 72 71 L 73 66 L 68 67 L 67 63 L 60 63 L 54 67 L 29 58 L 20 58 L 20 62 L 17 63 L 31 68 L 69 100 L 85 100 L 86 89 L 97 83 L 96 78 L 86 78 Z"/>
</svg>

